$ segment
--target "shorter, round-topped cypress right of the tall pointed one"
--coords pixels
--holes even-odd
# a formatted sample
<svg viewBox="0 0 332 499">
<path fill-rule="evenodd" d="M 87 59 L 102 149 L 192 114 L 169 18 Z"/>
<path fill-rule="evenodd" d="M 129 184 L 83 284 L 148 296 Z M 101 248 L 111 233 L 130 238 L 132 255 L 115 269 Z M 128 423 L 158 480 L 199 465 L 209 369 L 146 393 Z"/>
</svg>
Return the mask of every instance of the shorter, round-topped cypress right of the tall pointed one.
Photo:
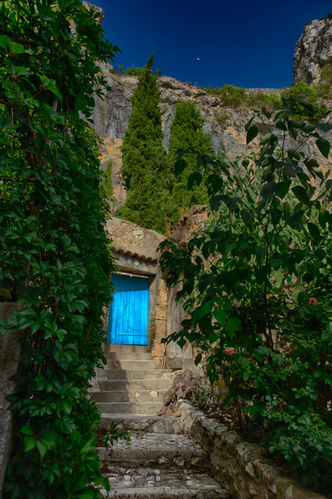
<svg viewBox="0 0 332 499">
<path fill-rule="evenodd" d="M 203 183 L 199 186 L 194 184 L 189 190 L 187 187 L 188 177 L 196 169 L 195 154 L 186 154 L 187 168 L 179 177 L 175 178 L 172 173 L 178 149 L 193 147 L 200 154 L 206 154 L 211 149 L 211 137 L 203 132 L 203 122 L 200 111 L 193 102 L 183 101 L 176 105 L 175 116 L 170 125 L 167 155 L 171 179 L 171 204 L 168 204 L 168 217 L 171 225 L 176 223 L 191 206 L 208 202 L 207 190 Z"/>
</svg>

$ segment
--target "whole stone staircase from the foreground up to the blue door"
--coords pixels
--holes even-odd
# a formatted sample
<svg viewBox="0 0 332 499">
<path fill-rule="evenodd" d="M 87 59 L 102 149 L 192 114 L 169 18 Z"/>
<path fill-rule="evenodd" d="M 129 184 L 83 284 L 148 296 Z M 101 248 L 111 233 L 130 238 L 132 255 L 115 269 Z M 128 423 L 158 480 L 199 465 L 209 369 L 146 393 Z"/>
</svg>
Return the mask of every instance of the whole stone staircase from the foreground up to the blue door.
<svg viewBox="0 0 332 499">
<path fill-rule="evenodd" d="M 106 345 L 107 365 L 91 393 L 106 431 L 128 431 L 124 440 L 97 448 L 110 499 L 230 499 L 209 473 L 209 456 L 182 435 L 181 418 L 154 416 L 171 387 L 170 369 L 157 369 L 148 349 Z"/>
</svg>

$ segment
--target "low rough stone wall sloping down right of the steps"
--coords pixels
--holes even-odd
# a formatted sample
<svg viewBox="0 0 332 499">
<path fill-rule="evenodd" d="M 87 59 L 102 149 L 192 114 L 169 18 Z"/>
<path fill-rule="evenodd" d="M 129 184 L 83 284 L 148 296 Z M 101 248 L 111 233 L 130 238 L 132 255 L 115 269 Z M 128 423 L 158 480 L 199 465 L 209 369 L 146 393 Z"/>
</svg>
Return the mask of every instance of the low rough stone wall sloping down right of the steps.
<svg viewBox="0 0 332 499">
<path fill-rule="evenodd" d="M 227 426 L 207 419 L 189 402 L 179 400 L 183 431 L 209 453 L 216 479 L 233 499 L 326 499 L 285 476 L 281 468 L 265 459 L 258 445 L 244 442 Z"/>
</svg>

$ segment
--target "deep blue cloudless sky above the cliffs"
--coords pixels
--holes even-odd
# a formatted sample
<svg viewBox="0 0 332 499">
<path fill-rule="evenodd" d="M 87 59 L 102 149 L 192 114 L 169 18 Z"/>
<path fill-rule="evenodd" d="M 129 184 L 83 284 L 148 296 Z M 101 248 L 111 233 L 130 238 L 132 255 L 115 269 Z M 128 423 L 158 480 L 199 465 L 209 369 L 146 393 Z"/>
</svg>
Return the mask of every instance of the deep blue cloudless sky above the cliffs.
<svg viewBox="0 0 332 499">
<path fill-rule="evenodd" d="M 304 24 L 332 11 L 331 0 L 94 2 L 105 11 L 106 36 L 122 50 L 116 68 L 144 66 L 155 50 L 154 68 L 163 75 L 199 86 L 247 88 L 292 83 Z"/>
</svg>

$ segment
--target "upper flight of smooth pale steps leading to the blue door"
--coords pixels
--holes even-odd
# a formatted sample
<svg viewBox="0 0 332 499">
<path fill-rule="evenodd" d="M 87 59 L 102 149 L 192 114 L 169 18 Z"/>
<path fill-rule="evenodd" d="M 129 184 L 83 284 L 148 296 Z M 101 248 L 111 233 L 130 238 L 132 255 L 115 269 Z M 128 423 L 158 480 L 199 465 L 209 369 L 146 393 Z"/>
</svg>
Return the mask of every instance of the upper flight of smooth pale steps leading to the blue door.
<svg viewBox="0 0 332 499">
<path fill-rule="evenodd" d="M 158 369 L 147 346 L 105 345 L 107 364 L 98 370 L 100 391 L 91 393 L 100 413 L 156 414 L 171 387 L 171 369 Z"/>
</svg>

